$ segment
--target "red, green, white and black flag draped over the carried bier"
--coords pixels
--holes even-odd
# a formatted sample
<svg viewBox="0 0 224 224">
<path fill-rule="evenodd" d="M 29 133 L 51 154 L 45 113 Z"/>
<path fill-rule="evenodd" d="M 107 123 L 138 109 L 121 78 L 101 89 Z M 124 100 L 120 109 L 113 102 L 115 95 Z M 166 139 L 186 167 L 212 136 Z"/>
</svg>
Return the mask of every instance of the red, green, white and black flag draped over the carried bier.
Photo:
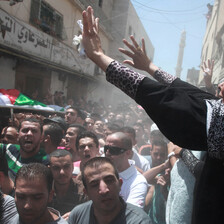
<svg viewBox="0 0 224 224">
<path fill-rule="evenodd" d="M 0 89 L 0 105 L 2 106 L 23 106 L 28 108 L 55 111 L 39 101 L 32 100 L 16 89 Z"/>
</svg>

